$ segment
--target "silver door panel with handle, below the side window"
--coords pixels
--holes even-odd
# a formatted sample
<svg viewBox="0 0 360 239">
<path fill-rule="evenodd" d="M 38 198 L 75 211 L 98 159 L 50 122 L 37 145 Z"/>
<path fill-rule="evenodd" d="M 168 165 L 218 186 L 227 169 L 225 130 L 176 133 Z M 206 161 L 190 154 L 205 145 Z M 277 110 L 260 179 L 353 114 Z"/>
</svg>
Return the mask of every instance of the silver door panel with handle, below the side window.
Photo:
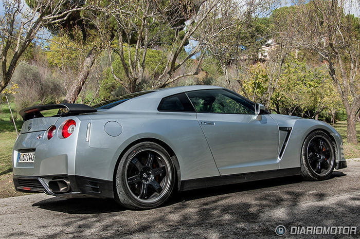
<svg viewBox="0 0 360 239">
<path fill-rule="evenodd" d="M 221 175 L 279 168 L 279 128 L 269 116 L 196 113 Z"/>
</svg>

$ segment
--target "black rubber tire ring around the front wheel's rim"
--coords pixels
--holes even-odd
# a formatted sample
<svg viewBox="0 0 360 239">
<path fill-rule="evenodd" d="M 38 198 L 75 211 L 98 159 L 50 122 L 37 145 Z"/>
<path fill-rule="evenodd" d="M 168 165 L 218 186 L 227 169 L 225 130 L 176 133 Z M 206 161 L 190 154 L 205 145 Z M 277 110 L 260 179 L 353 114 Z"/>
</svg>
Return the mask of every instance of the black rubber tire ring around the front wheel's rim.
<svg viewBox="0 0 360 239">
<path fill-rule="evenodd" d="M 332 148 L 332 167 L 330 169 L 330 171 L 326 174 L 326 175 L 318 175 L 316 174 L 312 169 L 311 166 L 308 162 L 307 159 L 307 147 L 308 144 L 310 143 L 310 141 L 315 137 L 315 136 L 323 136 L 325 137 L 329 142 L 330 142 L 330 147 Z M 326 180 L 328 178 L 331 177 L 332 172 L 335 169 L 335 162 L 336 162 L 336 145 L 334 143 L 334 141 L 324 132 L 322 131 L 314 131 L 312 133 L 310 133 L 304 140 L 304 143 L 302 144 L 302 149 L 301 149 L 301 172 L 304 176 L 304 178 L 307 179 L 312 179 L 312 180 Z"/>
</svg>

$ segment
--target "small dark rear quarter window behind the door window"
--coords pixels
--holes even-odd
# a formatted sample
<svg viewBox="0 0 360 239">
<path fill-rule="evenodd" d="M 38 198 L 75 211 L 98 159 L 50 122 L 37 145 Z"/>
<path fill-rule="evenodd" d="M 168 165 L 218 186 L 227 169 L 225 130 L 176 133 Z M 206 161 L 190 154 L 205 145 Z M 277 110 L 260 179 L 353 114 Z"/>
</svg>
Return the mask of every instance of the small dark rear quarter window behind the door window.
<svg viewBox="0 0 360 239">
<path fill-rule="evenodd" d="M 185 93 L 168 96 L 161 100 L 158 111 L 172 111 L 172 112 L 194 112 L 189 99 Z"/>
</svg>

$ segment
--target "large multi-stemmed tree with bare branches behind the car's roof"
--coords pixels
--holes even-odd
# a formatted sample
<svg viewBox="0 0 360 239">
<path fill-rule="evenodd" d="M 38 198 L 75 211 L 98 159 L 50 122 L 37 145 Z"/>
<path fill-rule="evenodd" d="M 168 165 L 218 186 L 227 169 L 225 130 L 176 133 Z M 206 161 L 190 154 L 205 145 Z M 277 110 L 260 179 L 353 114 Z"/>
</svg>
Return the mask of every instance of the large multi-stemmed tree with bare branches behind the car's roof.
<svg viewBox="0 0 360 239">
<path fill-rule="evenodd" d="M 99 11 L 113 16 L 117 23 L 117 54 L 124 72 L 114 78 L 129 92 L 137 90 L 142 81 L 153 82 L 152 88 L 166 87 L 186 76 L 197 75 L 209 46 L 223 38 L 234 26 L 239 13 L 237 1 L 121 1 L 129 4 L 127 11 L 119 11 L 121 4 L 106 6 Z M 250 1 L 247 2 L 250 4 Z M 166 37 L 164 37 L 166 36 Z M 194 43 L 185 54 L 184 47 Z M 160 50 L 166 59 L 159 73 L 149 72 L 147 55 Z M 113 54 L 109 55 L 110 57 Z M 179 73 L 182 66 L 196 57 L 193 71 Z"/>
</svg>

